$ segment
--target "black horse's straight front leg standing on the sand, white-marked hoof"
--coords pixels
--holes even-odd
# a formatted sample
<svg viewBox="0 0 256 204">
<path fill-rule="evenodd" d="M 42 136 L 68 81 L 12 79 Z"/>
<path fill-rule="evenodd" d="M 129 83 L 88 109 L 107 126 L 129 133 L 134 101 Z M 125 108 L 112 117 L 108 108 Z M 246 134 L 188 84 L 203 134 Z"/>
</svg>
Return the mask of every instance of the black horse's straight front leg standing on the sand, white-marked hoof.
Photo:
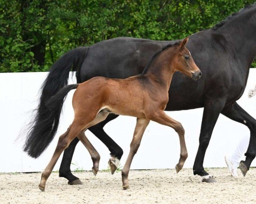
<svg viewBox="0 0 256 204">
<path fill-rule="evenodd" d="M 199 147 L 195 157 L 193 171 L 194 175 L 198 174 L 202 177 L 202 181 L 207 183 L 216 182 L 216 180 L 213 178 L 213 176 L 209 176 L 209 173 L 204 170 L 204 155 L 209 145 L 213 128 L 224 105 L 224 100 L 211 100 L 207 101 L 204 106 L 203 120 L 199 137 Z"/>
</svg>

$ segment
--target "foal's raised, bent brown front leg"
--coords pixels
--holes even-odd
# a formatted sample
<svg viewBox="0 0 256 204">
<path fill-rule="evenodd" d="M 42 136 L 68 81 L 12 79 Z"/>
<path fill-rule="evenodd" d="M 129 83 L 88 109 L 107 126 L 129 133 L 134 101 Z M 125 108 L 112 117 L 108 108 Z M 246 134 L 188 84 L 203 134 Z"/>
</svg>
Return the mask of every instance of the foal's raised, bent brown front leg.
<svg viewBox="0 0 256 204">
<path fill-rule="evenodd" d="M 184 138 L 185 131 L 183 129 L 183 126 L 181 125 L 180 122 L 177 122 L 176 120 L 172 119 L 170 116 L 166 115 L 164 111 L 159 111 L 155 113 L 150 119 L 162 125 L 172 127 L 178 133 L 179 139 L 180 139 L 180 159 L 179 159 L 179 163 L 175 167 L 176 172 L 178 173 L 182 169 L 184 162 L 188 157 L 185 138 Z"/>
</svg>

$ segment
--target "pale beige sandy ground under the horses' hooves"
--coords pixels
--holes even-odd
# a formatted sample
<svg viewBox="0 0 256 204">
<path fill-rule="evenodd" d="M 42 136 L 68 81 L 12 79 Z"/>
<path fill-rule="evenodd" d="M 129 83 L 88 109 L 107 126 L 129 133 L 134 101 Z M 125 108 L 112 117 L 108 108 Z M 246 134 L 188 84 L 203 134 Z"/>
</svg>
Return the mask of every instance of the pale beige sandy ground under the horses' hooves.
<svg viewBox="0 0 256 204">
<path fill-rule="evenodd" d="M 210 168 L 218 182 L 202 183 L 192 169 L 131 170 L 130 189 L 122 190 L 121 172 L 75 172 L 82 185 L 70 186 L 52 173 L 45 192 L 38 189 L 41 173 L 0 173 L 0 204 L 240 204 L 256 203 L 256 168 L 233 178 L 227 168 Z M 238 170 L 239 171 L 239 170 Z"/>
</svg>

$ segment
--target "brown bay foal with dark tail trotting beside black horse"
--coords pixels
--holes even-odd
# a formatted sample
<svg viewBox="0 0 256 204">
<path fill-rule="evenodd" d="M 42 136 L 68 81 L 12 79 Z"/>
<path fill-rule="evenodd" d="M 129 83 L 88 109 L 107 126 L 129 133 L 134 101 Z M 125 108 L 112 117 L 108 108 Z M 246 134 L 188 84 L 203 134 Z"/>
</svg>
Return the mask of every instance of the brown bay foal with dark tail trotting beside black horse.
<svg viewBox="0 0 256 204">
<path fill-rule="evenodd" d="M 131 161 L 150 120 L 172 127 L 178 133 L 180 159 L 175 168 L 177 172 L 182 169 L 187 158 L 184 129 L 180 122 L 166 115 L 163 110 L 169 100 L 168 90 L 175 71 L 180 71 L 194 80 L 201 77 L 201 71 L 185 47 L 187 41 L 188 38 L 185 38 L 175 45 L 164 47 L 153 56 L 140 75 L 127 79 L 94 77 L 81 84 L 67 85 L 49 99 L 46 105 L 50 111 L 55 111 L 57 107 L 61 107 L 67 93 L 76 89 L 73 96 L 75 118 L 68 130 L 60 136 L 52 159 L 42 173 L 39 184 L 42 191 L 62 151 L 75 137 L 87 147 L 88 140 L 83 132 L 105 120 L 109 113 L 137 117 L 130 153 L 122 169 L 123 189 L 129 187 Z"/>
</svg>

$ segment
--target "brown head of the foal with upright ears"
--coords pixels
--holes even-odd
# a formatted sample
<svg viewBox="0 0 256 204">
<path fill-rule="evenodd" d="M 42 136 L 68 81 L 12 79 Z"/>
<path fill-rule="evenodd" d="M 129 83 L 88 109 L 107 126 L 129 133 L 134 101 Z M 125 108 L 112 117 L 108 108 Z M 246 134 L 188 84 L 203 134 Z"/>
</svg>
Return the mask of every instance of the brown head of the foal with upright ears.
<svg viewBox="0 0 256 204">
<path fill-rule="evenodd" d="M 195 64 L 189 50 L 185 46 L 188 40 L 189 37 L 186 37 L 184 40 L 181 40 L 177 46 L 175 46 L 175 54 L 172 58 L 173 67 L 175 71 L 180 71 L 192 79 L 197 80 L 200 79 L 202 73 Z"/>
</svg>

